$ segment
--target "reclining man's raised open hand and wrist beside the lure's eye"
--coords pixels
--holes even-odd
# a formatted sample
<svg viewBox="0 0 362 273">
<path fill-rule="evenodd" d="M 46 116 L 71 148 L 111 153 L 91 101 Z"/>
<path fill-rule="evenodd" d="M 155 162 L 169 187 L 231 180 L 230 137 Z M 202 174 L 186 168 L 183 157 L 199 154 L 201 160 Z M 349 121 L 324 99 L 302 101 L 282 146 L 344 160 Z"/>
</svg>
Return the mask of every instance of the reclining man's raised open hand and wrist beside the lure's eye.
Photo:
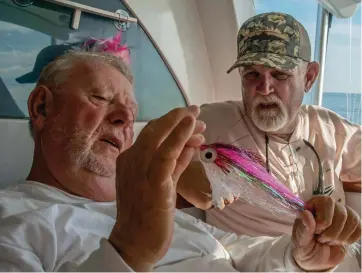
<svg viewBox="0 0 362 273">
<path fill-rule="evenodd" d="M 171 244 L 177 182 L 204 142 L 199 112 L 178 108 L 149 122 L 117 158 L 117 218 L 108 240 L 135 271 L 152 270 Z"/>
</svg>

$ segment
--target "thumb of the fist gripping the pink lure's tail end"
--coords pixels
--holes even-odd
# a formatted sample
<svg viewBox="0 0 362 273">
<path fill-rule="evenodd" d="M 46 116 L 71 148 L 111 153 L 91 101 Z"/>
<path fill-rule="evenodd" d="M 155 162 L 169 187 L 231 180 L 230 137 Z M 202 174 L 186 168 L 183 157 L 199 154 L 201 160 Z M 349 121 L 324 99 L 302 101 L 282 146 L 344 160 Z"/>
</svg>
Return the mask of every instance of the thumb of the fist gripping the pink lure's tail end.
<svg viewBox="0 0 362 273">
<path fill-rule="evenodd" d="M 316 222 L 313 214 L 303 211 L 293 226 L 293 243 L 297 248 L 308 248 L 314 239 Z"/>
</svg>

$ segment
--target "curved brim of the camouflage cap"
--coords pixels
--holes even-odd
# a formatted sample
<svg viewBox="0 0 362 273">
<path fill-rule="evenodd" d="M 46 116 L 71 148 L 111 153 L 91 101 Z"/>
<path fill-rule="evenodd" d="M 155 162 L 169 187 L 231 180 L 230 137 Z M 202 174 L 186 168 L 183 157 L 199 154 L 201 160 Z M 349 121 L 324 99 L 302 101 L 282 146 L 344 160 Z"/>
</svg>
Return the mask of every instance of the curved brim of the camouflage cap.
<svg viewBox="0 0 362 273">
<path fill-rule="evenodd" d="M 249 65 L 263 65 L 270 68 L 277 68 L 280 70 L 293 70 L 303 62 L 302 59 L 280 55 L 275 53 L 249 53 L 240 57 L 232 67 L 227 71 L 230 73 L 237 67 Z"/>
</svg>

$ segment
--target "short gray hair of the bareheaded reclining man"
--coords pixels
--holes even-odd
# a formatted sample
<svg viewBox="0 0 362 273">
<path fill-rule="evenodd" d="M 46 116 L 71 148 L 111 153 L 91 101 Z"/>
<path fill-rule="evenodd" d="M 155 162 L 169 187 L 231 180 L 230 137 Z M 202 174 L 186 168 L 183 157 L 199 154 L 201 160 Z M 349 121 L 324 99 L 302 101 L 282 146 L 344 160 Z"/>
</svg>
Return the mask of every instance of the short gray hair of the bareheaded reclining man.
<svg viewBox="0 0 362 273">
<path fill-rule="evenodd" d="M 109 64 L 121 72 L 130 83 L 133 83 L 131 70 L 120 57 L 105 52 L 71 50 L 59 56 L 43 68 L 37 86 L 45 85 L 51 88 L 58 88 L 66 81 L 68 74 L 71 72 L 74 65 L 85 61 L 101 61 Z M 31 120 L 29 120 L 29 130 L 31 136 L 34 138 Z"/>
</svg>

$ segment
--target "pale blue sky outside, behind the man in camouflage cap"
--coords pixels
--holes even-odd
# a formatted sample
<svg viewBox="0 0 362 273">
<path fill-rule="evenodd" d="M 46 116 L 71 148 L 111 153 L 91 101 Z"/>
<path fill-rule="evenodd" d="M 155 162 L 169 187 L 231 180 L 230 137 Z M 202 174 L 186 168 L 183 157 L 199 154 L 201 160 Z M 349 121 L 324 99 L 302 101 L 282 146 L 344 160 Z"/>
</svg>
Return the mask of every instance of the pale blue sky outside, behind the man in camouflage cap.
<svg viewBox="0 0 362 273">
<path fill-rule="evenodd" d="M 316 0 L 255 0 L 257 13 L 280 11 L 291 14 L 300 21 L 308 31 L 313 51 L 317 7 Z M 352 18 L 333 17 L 329 35 L 324 91 L 361 93 L 360 5 Z"/>
</svg>

